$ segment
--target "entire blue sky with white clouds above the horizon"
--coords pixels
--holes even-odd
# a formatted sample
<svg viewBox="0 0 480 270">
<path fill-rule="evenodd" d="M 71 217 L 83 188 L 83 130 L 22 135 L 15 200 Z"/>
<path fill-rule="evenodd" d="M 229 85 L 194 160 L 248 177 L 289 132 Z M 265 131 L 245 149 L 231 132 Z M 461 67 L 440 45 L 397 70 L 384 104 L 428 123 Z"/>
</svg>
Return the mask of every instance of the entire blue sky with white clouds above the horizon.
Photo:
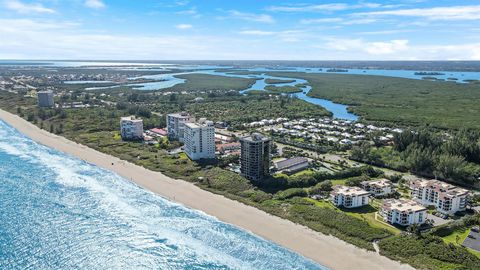
<svg viewBox="0 0 480 270">
<path fill-rule="evenodd" d="M 480 60 L 480 0 L 0 0 L 0 59 Z"/>
</svg>

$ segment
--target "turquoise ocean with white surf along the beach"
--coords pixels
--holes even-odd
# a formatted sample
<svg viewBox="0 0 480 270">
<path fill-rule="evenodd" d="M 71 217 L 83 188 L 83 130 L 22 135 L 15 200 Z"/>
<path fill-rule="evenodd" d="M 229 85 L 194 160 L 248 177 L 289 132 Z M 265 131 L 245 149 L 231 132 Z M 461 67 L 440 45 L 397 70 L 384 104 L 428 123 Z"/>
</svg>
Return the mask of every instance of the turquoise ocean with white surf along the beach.
<svg viewBox="0 0 480 270">
<path fill-rule="evenodd" d="M 325 269 L 0 121 L 0 269 Z"/>
</svg>

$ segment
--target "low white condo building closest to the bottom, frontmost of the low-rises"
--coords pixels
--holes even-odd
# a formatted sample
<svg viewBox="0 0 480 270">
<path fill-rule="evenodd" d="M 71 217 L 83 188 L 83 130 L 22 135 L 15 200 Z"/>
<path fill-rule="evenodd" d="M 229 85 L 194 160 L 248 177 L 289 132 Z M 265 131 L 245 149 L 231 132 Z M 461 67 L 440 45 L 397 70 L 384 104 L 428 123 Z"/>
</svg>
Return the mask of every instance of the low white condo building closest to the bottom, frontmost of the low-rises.
<svg viewBox="0 0 480 270">
<path fill-rule="evenodd" d="M 383 200 L 380 215 L 390 224 L 409 226 L 423 224 L 427 219 L 427 209 L 413 200 Z"/>
</svg>

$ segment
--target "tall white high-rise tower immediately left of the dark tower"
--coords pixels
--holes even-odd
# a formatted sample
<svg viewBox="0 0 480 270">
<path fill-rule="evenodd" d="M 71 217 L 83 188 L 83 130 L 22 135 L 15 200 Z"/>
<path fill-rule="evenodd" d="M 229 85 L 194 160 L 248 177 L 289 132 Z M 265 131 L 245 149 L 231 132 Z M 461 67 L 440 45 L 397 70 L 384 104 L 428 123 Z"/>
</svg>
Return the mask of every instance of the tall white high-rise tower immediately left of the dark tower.
<svg viewBox="0 0 480 270">
<path fill-rule="evenodd" d="M 215 127 L 202 118 L 196 123 L 184 124 L 185 153 L 192 160 L 215 158 Z"/>
</svg>

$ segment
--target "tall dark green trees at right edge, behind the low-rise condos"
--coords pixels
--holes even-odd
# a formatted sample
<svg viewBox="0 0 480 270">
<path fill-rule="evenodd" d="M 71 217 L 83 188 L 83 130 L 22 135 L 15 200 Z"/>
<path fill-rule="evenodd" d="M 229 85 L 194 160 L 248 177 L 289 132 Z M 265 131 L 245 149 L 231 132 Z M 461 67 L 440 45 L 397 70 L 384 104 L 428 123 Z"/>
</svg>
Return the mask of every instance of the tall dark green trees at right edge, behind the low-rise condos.
<svg viewBox="0 0 480 270">
<path fill-rule="evenodd" d="M 407 129 L 395 135 L 392 148 L 363 143 L 353 147 L 351 158 L 471 186 L 480 177 L 480 132 L 462 129 L 446 135 L 428 128 Z"/>
</svg>

